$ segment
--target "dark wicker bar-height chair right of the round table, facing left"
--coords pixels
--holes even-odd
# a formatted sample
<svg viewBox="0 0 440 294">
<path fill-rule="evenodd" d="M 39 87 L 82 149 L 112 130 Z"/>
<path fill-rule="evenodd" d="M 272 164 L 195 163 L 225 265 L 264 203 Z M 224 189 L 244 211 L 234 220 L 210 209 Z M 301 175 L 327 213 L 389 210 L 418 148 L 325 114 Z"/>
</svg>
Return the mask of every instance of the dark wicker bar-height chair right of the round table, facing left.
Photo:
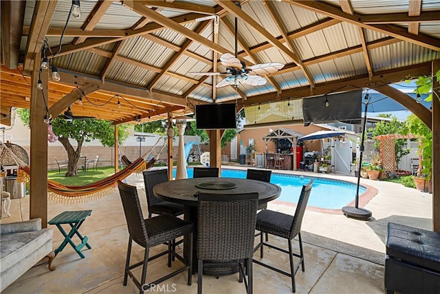
<svg viewBox="0 0 440 294">
<path fill-rule="evenodd" d="M 276 249 L 278 251 L 288 253 L 289 261 L 290 261 L 290 273 L 286 271 L 282 271 L 281 269 L 276 269 L 274 266 L 270 266 L 268 264 L 264 264 L 259 260 L 255 260 L 256 264 L 260 264 L 261 266 L 267 267 L 267 269 L 272 269 L 278 273 L 282 273 L 283 275 L 287 275 L 292 280 L 292 291 L 296 291 L 295 286 L 295 274 L 299 269 L 301 264 L 301 269 L 305 271 L 304 266 L 304 252 L 303 252 L 303 242 L 301 240 L 301 224 L 303 223 L 303 216 L 305 212 L 305 208 L 307 207 L 307 201 L 309 201 L 311 186 L 313 185 L 314 180 L 311 180 L 307 185 L 303 185 L 303 189 L 301 190 L 300 198 L 298 200 L 298 204 L 296 205 L 295 215 L 291 216 L 286 213 L 281 213 L 278 211 L 272 211 L 270 209 L 263 209 L 256 215 L 256 230 L 261 231 L 260 243 L 254 248 L 254 251 L 260 249 L 260 257 L 263 258 L 263 246 L 268 246 L 272 249 Z M 289 244 L 289 251 L 285 249 L 281 249 L 272 244 L 268 244 L 263 242 L 263 233 L 270 233 L 272 235 L 276 235 L 281 238 L 287 239 L 287 243 Z M 300 254 L 293 253 L 292 251 L 292 239 L 298 235 L 298 243 L 300 247 Z M 294 258 L 299 258 L 298 263 L 294 265 Z"/>
</svg>

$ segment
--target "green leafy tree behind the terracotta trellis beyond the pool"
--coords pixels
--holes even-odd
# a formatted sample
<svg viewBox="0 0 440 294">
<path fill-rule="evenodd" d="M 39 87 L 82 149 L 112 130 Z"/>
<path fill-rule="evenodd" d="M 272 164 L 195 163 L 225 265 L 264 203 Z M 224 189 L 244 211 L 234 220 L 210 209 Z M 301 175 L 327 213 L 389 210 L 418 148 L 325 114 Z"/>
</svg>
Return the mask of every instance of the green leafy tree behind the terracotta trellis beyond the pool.
<svg viewBox="0 0 440 294">
<path fill-rule="evenodd" d="M 386 134 L 406 134 L 408 132 L 408 126 L 406 123 L 397 120 L 397 118 L 394 116 L 390 121 L 382 120 L 380 123 L 377 123 L 374 128 L 369 129 L 369 132 L 373 132 L 373 137 Z M 395 140 L 394 144 L 396 165 L 397 169 L 399 169 L 399 162 L 401 158 L 409 154 L 410 149 L 406 148 L 405 139 Z M 374 147 L 375 149 L 379 150 L 379 140 L 375 140 Z"/>
</svg>

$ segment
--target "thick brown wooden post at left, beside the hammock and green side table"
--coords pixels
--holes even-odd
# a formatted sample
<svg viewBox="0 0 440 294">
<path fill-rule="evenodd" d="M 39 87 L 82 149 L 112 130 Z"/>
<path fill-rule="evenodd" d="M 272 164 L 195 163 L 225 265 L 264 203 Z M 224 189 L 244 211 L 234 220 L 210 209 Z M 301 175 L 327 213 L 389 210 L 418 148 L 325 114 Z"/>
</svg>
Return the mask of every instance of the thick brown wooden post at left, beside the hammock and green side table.
<svg viewBox="0 0 440 294">
<path fill-rule="evenodd" d="M 41 72 L 43 90 L 38 90 L 40 53 L 34 54 L 30 100 L 30 216 L 41 218 L 47 227 L 47 124 L 44 122 L 49 100 L 49 71 Z"/>
</svg>

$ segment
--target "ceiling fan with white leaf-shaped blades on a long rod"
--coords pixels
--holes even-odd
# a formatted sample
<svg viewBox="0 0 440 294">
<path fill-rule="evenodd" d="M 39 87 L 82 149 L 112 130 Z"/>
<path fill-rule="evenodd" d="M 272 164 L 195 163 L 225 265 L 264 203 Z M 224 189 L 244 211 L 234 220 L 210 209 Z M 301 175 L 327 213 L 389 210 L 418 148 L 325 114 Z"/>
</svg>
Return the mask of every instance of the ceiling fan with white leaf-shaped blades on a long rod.
<svg viewBox="0 0 440 294">
<path fill-rule="evenodd" d="M 284 67 L 283 63 L 278 62 L 260 63 L 246 67 L 245 63 L 237 58 L 237 26 L 237 19 L 235 18 L 235 56 L 230 53 L 225 53 L 220 56 L 220 62 L 226 67 L 226 72 L 190 72 L 190 74 L 197 76 L 228 75 L 217 83 L 215 87 L 233 85 L 237 88 L 241 83 L 253 86 L 265 85 L 267 81 L 262 75 L 278 72 L 278 70 Z"/>
</svg>

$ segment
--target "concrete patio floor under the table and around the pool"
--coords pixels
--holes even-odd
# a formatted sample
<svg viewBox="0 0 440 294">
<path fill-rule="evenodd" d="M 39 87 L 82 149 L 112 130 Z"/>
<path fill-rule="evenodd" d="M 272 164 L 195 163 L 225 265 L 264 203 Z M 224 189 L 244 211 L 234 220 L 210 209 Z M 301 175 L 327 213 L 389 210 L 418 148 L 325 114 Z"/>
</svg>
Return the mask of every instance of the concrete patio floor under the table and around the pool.
<svg viewBox="0 0 440 294">
<path fill-rule="evenodd" d="M 228 167 L 230 168 L 230 167 Z M 311 172 L 283 171 L 303 176 L 322 176 Z M 354 177 L 326 174 L 355 182 Z M 140 200 L 147 216 L 146 198 L 142 176 L 132 175 L 126 179 L 137 185 Z M 303 220 L 302 236 L 305 250 L 305 272 L 296 274 L 296 293 L 384 293 L 384 258 L 386 224 L 397 222 L 412 227 L 432 230 L 432 195 L 421 193 L 391 182 L 361 180 L 362 184 L 378 189 L 377 195 L 365 205 L 373 212 L 369 221 L 354 220 L 339 214 L 307 210 Z M 298 197 L 298 196 L 293 196 Z M 353 196 L 354 198 L 354 196 Z M 138 293 L 133 282 L 122 285 L 124 260 L 128 243 L 128 231 L 118 191 L 109 196 L 82 204 L 56 204 L 49 202 L 48 219 L 67 210 L 92 209 L 80 232 L 87 235 L 92 249 L 83 249 L 86 256 L 79 255 L 67 245 L 59 253 L 50 272 L 47 263 L 34 266 L 3 293 Z M 294 213 L 294 207 L 280 202 L 270 202 L 268 209 Z M 1 223 L 27 220 L 29 218 L 29 196 L 12 200 L 11 216 L 3 214 Z M 54 226 L 53 246 L 58 247 L 63 235 Z M 284 246 L 287 242 L 270 236 L 270 241 Z M 257 242 L 257 240 L 256 240 Z M 294 250 L 298 243 L 294 242 Z M 164 250 L 157 246 L 151 254 Z M 142 260 L 140 246 L 133 249 L 133 261 Z M 259 258 L 256 253 L 254 258 Z M 287 255 L 265 248 L 265 262 L 287 270 Z M 179 262 L 173 263 L 177 268 Z M 148 264 L 147 282 L 170 271 L 166 260 L 155 260 Z M 140 269 L 137 270 L 140 275 Z M 192 286 L 186 284 L 182 273 L 162 283 L 154 293 L 197 293 L 197 274 L 192 275 Z M 160 291 L 157 291 L 160 290 Z M 245 286 L 238 282 L 237 275 L 203 277 L 203 293 L 245 293 Z M 254 293 L 292 293 L 289 277 L 254 264 Z"/>
</svg>

